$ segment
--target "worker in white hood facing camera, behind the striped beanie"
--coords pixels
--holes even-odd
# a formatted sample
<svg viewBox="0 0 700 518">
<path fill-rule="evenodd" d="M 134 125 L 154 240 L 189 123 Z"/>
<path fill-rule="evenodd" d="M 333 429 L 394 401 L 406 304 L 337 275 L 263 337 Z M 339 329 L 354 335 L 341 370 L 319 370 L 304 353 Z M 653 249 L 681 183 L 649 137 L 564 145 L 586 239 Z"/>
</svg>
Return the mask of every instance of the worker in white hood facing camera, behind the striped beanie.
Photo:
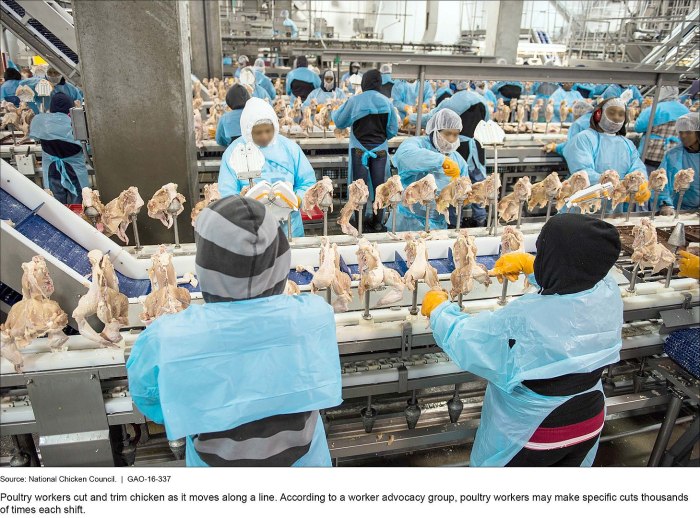
<svg viewBox="0 0 700 518">
<path fill-rule="evenodd" d="M 292 185 L 299 201 L 304 193 L 316 183 L 316 173 L 299 144 L 279 134 L 279 122 L 275 110 L 262 99 L 250 99 L 241 114 L 241 136 L 226 148 L 219 168 L 219 192 L 221 196 L 240 194 L 248 185 L 238 179 L 230 163 L 233 150 L 238 144 L 252 142 L 265 156 L 262 177 L 257 181 L 287 182 Z M 304 236 L 304 225 L 298 210 L 292 212 L 294 237 Z"/>
</svg>

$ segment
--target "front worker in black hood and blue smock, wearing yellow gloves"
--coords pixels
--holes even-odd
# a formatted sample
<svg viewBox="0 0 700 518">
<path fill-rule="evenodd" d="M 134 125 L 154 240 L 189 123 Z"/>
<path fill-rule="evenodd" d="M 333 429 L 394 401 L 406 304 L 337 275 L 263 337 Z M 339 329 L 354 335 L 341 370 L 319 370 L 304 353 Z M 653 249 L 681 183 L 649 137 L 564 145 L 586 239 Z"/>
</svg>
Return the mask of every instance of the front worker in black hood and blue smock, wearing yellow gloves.
<svg viewBox="0 0 700 518">
<path fill-rule="evenodd" d="M 622 298 L 610 269 L 614 226 L 581 214 L 551 218 L 537 255 L 504 254 L 492 274 L 528 275 L 537 293 L 497 311 L 463 313 L 443 291 L 421 312 L 435 342 L 488 382 L 470 466 L 591 466 L 605 424 L 604 369 L 620 360 Z"/>
</svg>

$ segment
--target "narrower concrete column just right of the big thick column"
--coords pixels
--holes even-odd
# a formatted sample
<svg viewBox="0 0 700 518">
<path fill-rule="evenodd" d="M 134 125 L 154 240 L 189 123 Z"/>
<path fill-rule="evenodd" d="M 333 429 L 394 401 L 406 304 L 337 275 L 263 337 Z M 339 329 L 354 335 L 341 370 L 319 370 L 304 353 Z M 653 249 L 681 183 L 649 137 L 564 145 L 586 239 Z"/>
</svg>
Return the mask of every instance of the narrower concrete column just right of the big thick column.
<svg viewBox="0 0 700 518">
<path fill-rule="evenodd" d="M 189 0 L 188 3 L 190 7 L 192 73 L 200 79 L 223 77 L 219 2 Z"/>
</svg>

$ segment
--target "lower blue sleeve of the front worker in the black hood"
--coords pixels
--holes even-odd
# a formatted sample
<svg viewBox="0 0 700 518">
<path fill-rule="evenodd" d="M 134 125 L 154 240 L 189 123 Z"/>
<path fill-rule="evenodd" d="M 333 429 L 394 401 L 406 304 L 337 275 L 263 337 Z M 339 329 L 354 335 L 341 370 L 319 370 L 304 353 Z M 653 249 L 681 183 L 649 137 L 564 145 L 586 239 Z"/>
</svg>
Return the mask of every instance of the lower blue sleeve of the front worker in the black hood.
<svg viewBox="0 0 700 518">
<path fill-rule="evenodd" d="M 508 375 L 507 322 L 500 311 L 471 316 L 445 302 L 430 315 L 435 342 L 465 371 L 504 387 Z"/>
</svg>

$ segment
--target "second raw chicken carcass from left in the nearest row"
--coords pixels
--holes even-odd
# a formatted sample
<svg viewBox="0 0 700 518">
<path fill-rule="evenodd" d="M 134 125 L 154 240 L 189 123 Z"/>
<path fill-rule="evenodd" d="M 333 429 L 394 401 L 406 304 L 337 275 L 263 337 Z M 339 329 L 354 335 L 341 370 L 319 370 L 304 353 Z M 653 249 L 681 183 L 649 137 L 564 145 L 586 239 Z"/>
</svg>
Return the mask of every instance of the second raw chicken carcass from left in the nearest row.
<svg viewBox="0 0 700 518">
<path fill-rule="evenodd" d="M 119 293 L 119 281 L 107 255 L 99 250 L 88 252 L 92 266 L 92 282 L 88 292 L 80 297 L 73 318 L 78 330 L 85 338 L 97 342 L 102 347 L 113 346 L 122 340 L 119 328 L 129 323 L 129 300 Z M 101 333 L 95 332 L 87 319 L 92 315 L 105 324 Z"/>
</svg>

